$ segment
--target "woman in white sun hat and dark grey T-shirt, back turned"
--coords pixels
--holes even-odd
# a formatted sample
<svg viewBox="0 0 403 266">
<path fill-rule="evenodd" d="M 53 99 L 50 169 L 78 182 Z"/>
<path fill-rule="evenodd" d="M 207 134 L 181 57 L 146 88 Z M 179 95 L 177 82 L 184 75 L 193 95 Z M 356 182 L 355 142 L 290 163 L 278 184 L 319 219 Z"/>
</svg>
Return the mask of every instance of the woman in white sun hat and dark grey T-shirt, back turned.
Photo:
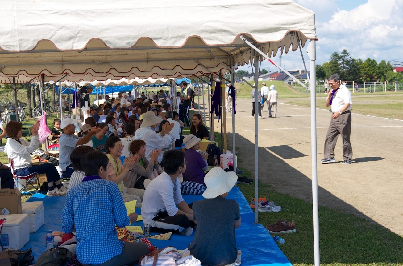
<svg viewBox="0 0 403 266">
<path fill-rule="evenodd" d="M 237 259 L 235 229 L 241 225 L 241 214 L 238 203 L 225 198 L 236 182 L 234 172 L 215 167 L 204 177 L 206 199 L 193 203 L 197 230 L 188 248 L 202 265 L 221 266 Z M 211 241 L 212 235 L 214 241 Z"/>
</svg>

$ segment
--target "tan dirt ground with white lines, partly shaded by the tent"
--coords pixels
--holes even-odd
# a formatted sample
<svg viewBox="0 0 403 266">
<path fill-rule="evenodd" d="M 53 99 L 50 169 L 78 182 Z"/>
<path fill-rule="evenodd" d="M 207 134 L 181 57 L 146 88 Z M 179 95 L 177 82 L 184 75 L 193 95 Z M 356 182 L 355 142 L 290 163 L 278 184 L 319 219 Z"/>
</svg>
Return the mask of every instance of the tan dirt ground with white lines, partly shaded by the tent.
<svg viewBox="0 0 403 266">
<path fill-rule="evenodd" d="M 268 117 L 265 106 L 263 119 L 258 120 L 259 178 L 279 192 L 312 202 L 310 108 L 284 104 L 287 101 L 279 99 L 276 118 Z M 339 137 L 336 163 L 321 164 L 330 112 L 316 112 L 319 204 L 364 217 L 403 235 L 403 121 L 352 112 L 354 163 L 342 164 Z M 241 166 L 254 173 L 255 122 L 250 99 L 237 100 L 235 117 Z M 227 132 L 232 133 L 231 116 L 227 118 Z M 232 134 L 228 137 L 232 143 Z"/>
</svg>

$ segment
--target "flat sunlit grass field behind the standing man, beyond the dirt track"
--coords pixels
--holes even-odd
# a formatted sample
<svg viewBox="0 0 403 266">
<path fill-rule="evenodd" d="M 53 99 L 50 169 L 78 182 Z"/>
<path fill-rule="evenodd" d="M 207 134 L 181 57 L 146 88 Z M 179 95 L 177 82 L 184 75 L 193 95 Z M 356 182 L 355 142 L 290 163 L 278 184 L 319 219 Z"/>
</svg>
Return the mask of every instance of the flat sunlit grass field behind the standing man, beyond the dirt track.
<svg viewBox="0 0 403 266">
<path fill-rule="evenodd" d="M 310 100 L 293 100 L 286 103 L 306 107 L 311 106 Z M 329 108 L 325 106 L 322 99 L 316 101 L 316 106 L 321 109 Z M 353 95 L 352 111 L 361 115 L 403 119 L 403 94 L 382 97 L 354 97 Z"/>
</svg>

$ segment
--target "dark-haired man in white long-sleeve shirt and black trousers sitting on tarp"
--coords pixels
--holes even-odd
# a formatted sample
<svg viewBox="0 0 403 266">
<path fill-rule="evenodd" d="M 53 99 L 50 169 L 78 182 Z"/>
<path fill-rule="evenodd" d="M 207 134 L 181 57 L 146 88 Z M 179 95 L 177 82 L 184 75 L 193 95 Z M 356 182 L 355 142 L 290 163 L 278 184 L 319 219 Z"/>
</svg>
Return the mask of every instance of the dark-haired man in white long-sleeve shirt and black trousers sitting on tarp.
<svg viewBox="0 0 403 266">
<path fill-rule="evenodd" d="M 184 153 L 170 150 L 164 153 L 164 172 L 151 180 L 144 192 L 141 214 L 152 232 L 193 232 L 193 210 L 182 198 L 178 176 L 186 170 Z"/>
</svg>

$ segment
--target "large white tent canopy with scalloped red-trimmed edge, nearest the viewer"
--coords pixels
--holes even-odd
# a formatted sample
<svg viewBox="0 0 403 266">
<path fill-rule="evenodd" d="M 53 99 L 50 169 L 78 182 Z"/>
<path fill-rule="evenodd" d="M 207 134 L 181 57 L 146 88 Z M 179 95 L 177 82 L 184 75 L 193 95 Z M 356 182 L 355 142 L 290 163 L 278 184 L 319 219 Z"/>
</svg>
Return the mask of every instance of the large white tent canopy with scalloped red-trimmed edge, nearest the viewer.
<svg viewBox="0 0 403 266">
<path fill-rule="evenodd" d="M 269 56 L 316 39 L 314 13 L 290 0 L 4 0 L 2 14 L 0 76 L 19 82 L 202 75 L 223 68 L 206 48 L 251 62 L 239 35 Z"/>
</svg>

